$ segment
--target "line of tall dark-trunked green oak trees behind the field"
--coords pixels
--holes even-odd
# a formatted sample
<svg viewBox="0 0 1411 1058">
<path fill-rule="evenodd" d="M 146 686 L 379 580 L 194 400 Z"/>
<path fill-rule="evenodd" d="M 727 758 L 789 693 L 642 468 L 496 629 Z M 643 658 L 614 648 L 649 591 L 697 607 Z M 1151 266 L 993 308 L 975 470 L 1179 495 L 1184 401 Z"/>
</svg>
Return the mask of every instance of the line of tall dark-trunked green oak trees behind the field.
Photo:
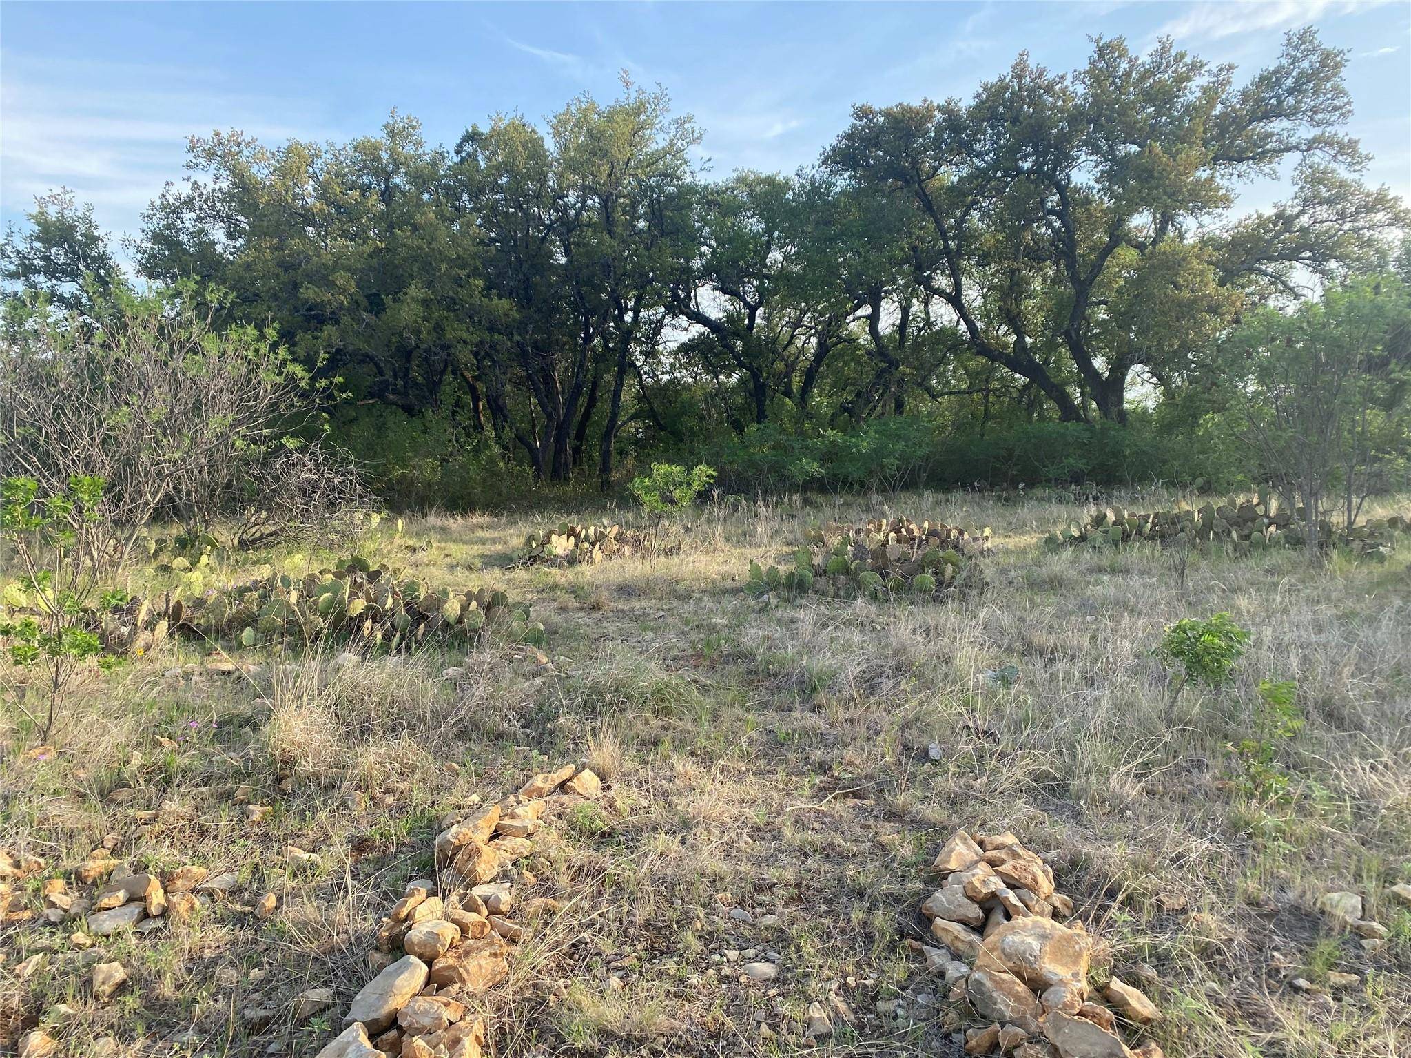
<svg viewBox="0 0 1411 1058">
<path fill-rule="evenodd" d="M 1020 56 L 967 102 L 858 106 L 794 175 L 711 178 L 693 120 L 625 79 L 450 150 L 395 113 L 346 144 L 214 133 L 130 254 L 165 296 L 272 327 L 401 502 L 605 485 L 648 453 L 789 487 L 886 446 L 921 480 L 1161 474 L 1229 454 L 1209 422 L 1260 313 L 1369 275 L 1363 296 L 1405 303 L 1407 216 L 1359 181 L 1343 66 L 1311 30 L 1242 83 L 1098 39 L 1071 73 Z M 1273 176 L 1287 199 L 1240 210 Z M 131 284 L 63 193 L 3 264 L 11 340 L 40 302 L 97 322 Z M 1404 358 L 1384 361 L 1391 387 Z"/>
</svg>

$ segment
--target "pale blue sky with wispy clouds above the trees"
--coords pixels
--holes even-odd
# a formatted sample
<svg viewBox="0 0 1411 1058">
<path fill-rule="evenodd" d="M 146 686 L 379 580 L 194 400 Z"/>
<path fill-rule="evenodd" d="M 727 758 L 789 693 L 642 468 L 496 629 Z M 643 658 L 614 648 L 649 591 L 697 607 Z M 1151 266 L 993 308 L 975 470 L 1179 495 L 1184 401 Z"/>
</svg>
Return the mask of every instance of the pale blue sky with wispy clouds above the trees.
<svg viewBox="0 0 1411 1058">
<path fill-rule="evenodd" d="M 1284 30 L 1348 48 L 1352 131 L 1369 178 L 1411 200 L 1411 3 L 452 4 L 0 3 L 0 214 L 59 185 L 135 233 L 179 179 L 185 138 L 241 128 L 268 141 L 375 131 L 391 109 L 453 145 L 471 123 L 540 118 L 619 69 L 660 83 L 706 130 L 715 174 L 792 171 L 852 103 L 968 96 L 1027 49 L 1054 69 L 1089 34 L 1160 34 L 1253 73 Z M 1280 188 L 1250 188 L 1250 207 Z"/>
</svg>

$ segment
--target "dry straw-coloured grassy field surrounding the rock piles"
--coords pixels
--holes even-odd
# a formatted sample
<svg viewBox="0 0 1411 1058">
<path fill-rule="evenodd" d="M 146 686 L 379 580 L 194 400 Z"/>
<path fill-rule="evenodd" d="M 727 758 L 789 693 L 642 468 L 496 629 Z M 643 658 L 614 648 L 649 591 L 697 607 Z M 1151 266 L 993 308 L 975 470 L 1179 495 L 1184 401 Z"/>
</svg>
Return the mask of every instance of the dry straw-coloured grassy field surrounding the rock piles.
<svg viewBox="0 0 1411 1058">
<path fill-rule="evenodd" d="M 107 1002 L 73 924 L 4 923 L 0 1040 L 52 1016 L 73 1055 L 102 1037 L 114 1055 L 312 1055 L 371 976 L 378 918 L 433 869 L 443 815 L 586 758 L 605 796 L 552 820 L 521 877 L 562 907 L 481 1003 L 498 1055 L 793 1054 L 813 1047 L 814 1002 L 835 1024 L 814 1050 L 958 1055 L 976 1023 L 906 947 L 957 828 L 1013 831 L 1053 865 L 1103 941 L 1099 973 L 1150 982 L 1167 1055 L 1411 1054 L 1411 910 L 1386 892 L 1411 880 L 1411 545 L 1318 570 L 1298 550 L 1195 556 L 1182 584 L 1154 546 L 1038 546 L 1082 513 L 968 494 L 732 504 L 698 511 L 679 554 L 566 570 L 507 564 L 531 529 L 614 512 L 384 526 L 367 557 L 502 587 L 547 646 L 347 667 L 254 650 L 257 671 L 226 676 L 168 643 L 83 681 L 42 759 L 6 715 L 0 846 L 55 873 L 107 838 L 134 869 L 238 884 L 106 944 L 131 975 Z M 992 526 L 988 591 L 741 594 L 749 560 L 777 561 L 810 523 L 879 515 Z M 1237 679 L 1173 700 L 1163 626 L 1219 611 L 1253 632 Z M 1274 732 L 1264 679 L 1297 680 L 1295 734 Z M 251 822 L 247 804 L 270 811 Z M 291 866 L 289 845 L 319 862 Z M 48 873 L 17 901 L 37 908 Z M 1363 894 L 1387 945 L 1328 923 L 1331 890 Z M 779 976 L 744 978 L 766 954 Z M 1329 985 L 1339 972 L 1359 982 Z M 319 986 L 333 1006 L 298 1017 Z"/>
</svg>

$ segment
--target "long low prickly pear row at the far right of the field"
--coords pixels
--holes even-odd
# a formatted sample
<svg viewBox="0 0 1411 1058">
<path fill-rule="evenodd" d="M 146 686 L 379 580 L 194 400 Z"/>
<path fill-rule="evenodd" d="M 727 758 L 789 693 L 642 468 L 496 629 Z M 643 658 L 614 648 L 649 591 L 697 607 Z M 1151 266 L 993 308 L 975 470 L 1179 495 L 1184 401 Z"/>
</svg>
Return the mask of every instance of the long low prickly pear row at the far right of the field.
<svg viewBox="0 0 1411 1058">
<path fill-rule="evenodd" d="M 1408 521 L 1400 515 L 1338 529 L 1328 521 L 1318 522 L 1319 542 L 1349 547 L 1356 554 L 1386 554 L 1393 535 L 1407 532 Z M 1074 522 L 1044 537 L 1044 546 L 1060 549 L 1074 543 L 1095 546 L 1122 545 L 1133 540 L 1189 542 L 1229 545 L 1240 550 L 1305 543 L 1304 511 L 1288 509 L 1268 492 L 1250 498 L 1230 497 L 1175 511 L 1139 513 L 1120 506 L 1094 512 L 1082 525 Z"/>
</svg>

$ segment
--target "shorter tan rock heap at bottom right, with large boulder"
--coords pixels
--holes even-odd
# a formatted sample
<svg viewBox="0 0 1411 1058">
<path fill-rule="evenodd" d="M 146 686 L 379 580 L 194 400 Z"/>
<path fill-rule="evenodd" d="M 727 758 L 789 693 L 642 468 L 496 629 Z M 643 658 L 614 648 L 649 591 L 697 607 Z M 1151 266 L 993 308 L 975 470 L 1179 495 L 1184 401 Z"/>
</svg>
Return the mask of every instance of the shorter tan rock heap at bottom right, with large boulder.
<svg viewBox="0 0 1411 1058">
<path fill-rule="evenodd" d="M 978 841 L 957 831 L 933 870 L 941 887 L 921 904 L 938 945 L 919 948 L 927 969 L 951 985 L 989 1024 L 967 1033 L 969 1054 L 1015 1058 L 1160 1058 L 1146 1041 L 1127 1048 L 1118 1019 L 1149 1026 L 1161 1011 L 1139 989 L 1112 978 L 1101 1002 L 1089 995 L 1095 940 L 1071 918 L 1072 900 L 1053 870 L 1013 834 Z"/>
</svg>

